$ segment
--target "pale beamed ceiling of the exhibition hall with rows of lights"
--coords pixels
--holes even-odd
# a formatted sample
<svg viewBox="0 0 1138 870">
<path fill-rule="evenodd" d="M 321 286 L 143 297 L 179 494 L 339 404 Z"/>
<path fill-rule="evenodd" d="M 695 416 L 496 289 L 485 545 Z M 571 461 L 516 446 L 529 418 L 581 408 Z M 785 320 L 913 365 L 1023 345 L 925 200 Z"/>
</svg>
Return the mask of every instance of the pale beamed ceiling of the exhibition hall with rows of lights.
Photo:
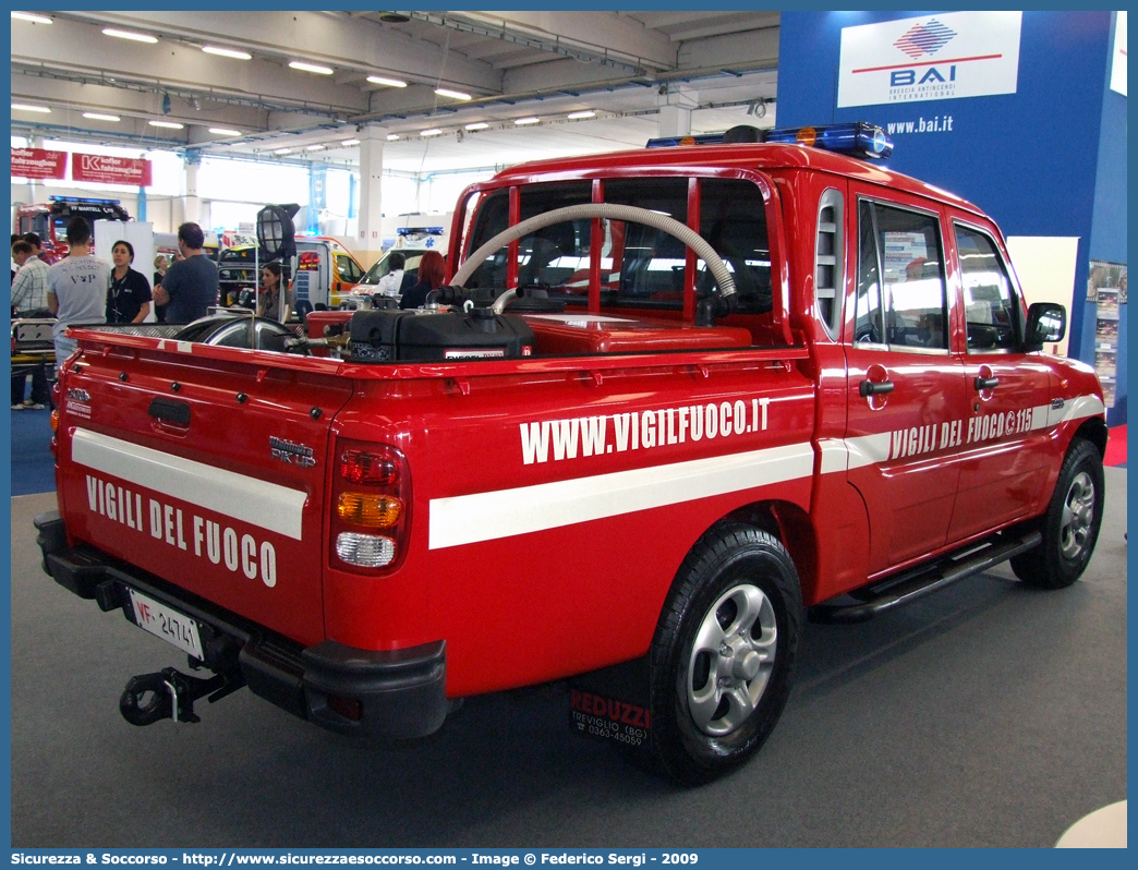
<svg viewBox="0 0 1138 870">
<path fill-rule="evenodd" d="M 775 11 L 49 11 L 11 22 L 14 134 L 166 146 L 353 166 L 340 142 L 365 126 L 397 134 L 385 167 L 427 173 L 638 148 L 663 105 L 692 109 L 693 132 L 774 121 Z M 104 35 L 141 32 L 152 44 Z M 203 46 L 248 52 L 248 60 Z M 289 61 L 331 69 L 318 75 Z M 405 88 L 374 84 L 369 75 Z M 470 100 L 439 97 L 438 87 Z M 570 112 L 591 109 L 591 120 Z M 84 112 L 119 122 L 84 118 Z M 541 123 L 517 126 L 536 116 Z M 183 130 L 157 131 L 150 120 Z M 467 131 L 471 123 L 488 129 Z M 238 130 L 238 138 L 208 128 Z M 444 133 L 423 138 L 439 128 Z M 296 153 L 287 159 L 295 161 Z"/>
</svg>

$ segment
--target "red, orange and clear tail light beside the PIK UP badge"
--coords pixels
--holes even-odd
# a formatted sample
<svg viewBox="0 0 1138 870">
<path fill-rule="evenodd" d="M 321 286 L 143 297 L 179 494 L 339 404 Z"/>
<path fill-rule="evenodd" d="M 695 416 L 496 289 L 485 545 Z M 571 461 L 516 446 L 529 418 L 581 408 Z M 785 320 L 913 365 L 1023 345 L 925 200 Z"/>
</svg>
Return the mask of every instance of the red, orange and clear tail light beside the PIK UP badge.
<svg viewBox="0 0 1138 870">
<path fill-rule="evenodd" d="M 411 476 L 394 448 L 340 440 L 332 489 L 332 557 L 353 568 L 390 569 L 411 528 Z"/>
</svg>

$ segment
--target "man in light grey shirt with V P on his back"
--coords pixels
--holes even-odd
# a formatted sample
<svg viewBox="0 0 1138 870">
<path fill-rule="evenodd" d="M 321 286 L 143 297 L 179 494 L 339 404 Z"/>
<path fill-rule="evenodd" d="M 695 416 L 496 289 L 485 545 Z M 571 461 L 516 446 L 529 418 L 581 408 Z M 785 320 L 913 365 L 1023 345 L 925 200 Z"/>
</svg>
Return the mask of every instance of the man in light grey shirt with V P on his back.
<svg viewBox="0 0 1138 870">
<path fill-rule="evenodd" d="M 69 326 L 107 322 L 110 264 L 91 255 L 91 227 L 83 217 L 67 222 L 67 256 L 48 270 L 48 310 L 56 315 L 56 368 L 79 343 L 65 333 Z"/>
</svg>

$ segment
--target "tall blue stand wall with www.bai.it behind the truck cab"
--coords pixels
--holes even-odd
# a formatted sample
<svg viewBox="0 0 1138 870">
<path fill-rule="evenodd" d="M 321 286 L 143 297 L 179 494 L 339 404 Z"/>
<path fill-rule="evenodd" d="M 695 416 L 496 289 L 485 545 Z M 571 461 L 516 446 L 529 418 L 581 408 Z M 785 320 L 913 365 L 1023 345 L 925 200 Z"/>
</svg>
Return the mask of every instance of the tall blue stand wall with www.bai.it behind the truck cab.
<svg viewBox="0 0 1138 870">
<path fill-rule="evenodd" d="M 1107 87 L 1113 14 L 1023 13 L 1017 75 L 1008 88 L 1013 92 L 838 107 L 843 28 L 908 18 L 935 27 L 938 16 L 950 15 L 783 13 L 778 126 L 879 124 L 893 138 L 891 169 L 975 203 L 1005 235 L 1079 237 L 1070 353 L 1094 364 L 1094 305 L 1086 301 L 1089 261 L 1127 262 L 1127 98 Z M 874 58 L 881 65 L 876 68 L 904 66 L 896 63 L 896 50 L 890 54 L 888 43 L 884 48 L 880 60 Z M 941 56 L 954 50 L 968 54 L 953 43 Z M 946 77 L 955 75 L 946 61 L 913 66 L 914 73 L 898 69 L 894 80 L 924 77 L 938 66 Z M 1124 314 L 1122 320 L 1120 344 Z M 1124 368 L 1124 344 L 1119 351 Z M 1112 417 L 1120 410 L 1124 415 L 1124 372 L 1120 376 L 1120 408 Z M 1124 417 L 1112 420 L 1122 421 Z"/>
</svg>

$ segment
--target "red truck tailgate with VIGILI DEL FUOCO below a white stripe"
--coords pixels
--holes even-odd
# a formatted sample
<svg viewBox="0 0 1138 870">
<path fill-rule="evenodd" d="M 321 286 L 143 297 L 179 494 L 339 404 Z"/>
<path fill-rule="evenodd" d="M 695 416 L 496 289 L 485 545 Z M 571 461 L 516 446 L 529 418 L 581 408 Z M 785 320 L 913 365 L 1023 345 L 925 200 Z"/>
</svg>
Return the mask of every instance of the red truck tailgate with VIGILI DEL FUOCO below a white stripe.
<svg viewBox="0 0 1138 870">
<path fill-rule="evenodd" d="M 71 539 L 300 643 L 323 640 L 329 422 L 351 384 L 331 361 L 108 342 L 84 343 L 61 380 Z"/>
</svg>

